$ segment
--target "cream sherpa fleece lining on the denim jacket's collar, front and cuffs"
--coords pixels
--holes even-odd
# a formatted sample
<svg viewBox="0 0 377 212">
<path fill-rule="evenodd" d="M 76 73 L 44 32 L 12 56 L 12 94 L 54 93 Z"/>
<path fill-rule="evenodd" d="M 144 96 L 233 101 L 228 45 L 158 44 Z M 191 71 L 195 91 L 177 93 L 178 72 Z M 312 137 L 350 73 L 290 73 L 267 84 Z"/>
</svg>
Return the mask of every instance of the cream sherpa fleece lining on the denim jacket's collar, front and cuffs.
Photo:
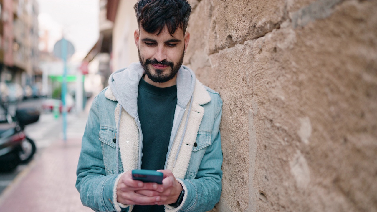
<svg viewBox="0 0 377 212">
<path fill-rule="evenodd" d="M 110 88 L 107 88 L 105 92 L 105 97 L 116 101 L 115 96 L 112 94 L 112 91 Z M 206 104 L 209 101 L 211 101 L 211 97 L 208 94 L 207 90 L 204 88 L 203 84 L 196 80 L 195 83 L 195 89 L 193 93 L 193 104 L 191 108 L 191 113 L 189 117 L 189 122 L 187 124 L 186 134 L 183 139 L 182 147 L 179 151 L 178 159 L 176 161 L 175 167 L 173 168 L 175 155 L 178 151 L 179 143 L 182 137 L 182 133 L 184 131 L 184 124 L 181 124 L 179 126 L 177 135 L 175 137 L 172 150 L 170 151 L 170 155 L 167 162 L 167 169 L 170 169 L 174 176 L 176 178 L 184 179 L 186 175 L 187 168 L 189 167 L 191 153 L 192 153 L 192 147 L 193 144 L 196 141 L 196 136 L 199 130 L 200 123 L 202 121 L 203 115 L 204 115 L 204 108 L 200 106 L 200 104 Z M 188 103 L 190 104 L 190 102 Z M 185 120 L 187 118 L 187 112 L 189 110 L 185 111 L 184 117 L 181 121 L 181 123 L 185 123 Z M 115 108 L 115 123 L 118 123 L 118 115 L 119 115 L 119 108 Z M 118 132 L 117 132 L 118 133 Z M 121 122 L 119 127 L 119 151 L 121 154 L 121 161 L 123 165 L 123 171 L 130 171 L 133 169 L 137 169 L 137 163 L 139 158 L 139 131 L 138 127 L 136 125 L 136 122 L 134 118 L 132 118 L 124 109 L 122 109 L 122 115 L 121 115 Z M 188 145 L 187 145 L 188 144 Z M 120 174 L 121 176 L 121 174 Z M 121 211 L 120 207 L 130 207 L 129 211 L 132 211 L 133 206 L 132 205 L 124 205 L 121 203 L 116 202 L 116 186 L 118 184 L 119 178 L 118 176 L 117 181 L 114 185 L 114 205 L 117 212 Z M 182 184 L 183 189 L 185 190 L 185 195 L 183 197 L 182 203 L 179 207 L 172 208 L 169 205 L 165 205 L 165 210 L 169 212 L 176 212 L 181 209 L 181 207 L 184 205 L 185 200 L 187 199 L 187 187 L 184 185 L 184 183 L 177 179 L 179 183 Z"/>
</svg>

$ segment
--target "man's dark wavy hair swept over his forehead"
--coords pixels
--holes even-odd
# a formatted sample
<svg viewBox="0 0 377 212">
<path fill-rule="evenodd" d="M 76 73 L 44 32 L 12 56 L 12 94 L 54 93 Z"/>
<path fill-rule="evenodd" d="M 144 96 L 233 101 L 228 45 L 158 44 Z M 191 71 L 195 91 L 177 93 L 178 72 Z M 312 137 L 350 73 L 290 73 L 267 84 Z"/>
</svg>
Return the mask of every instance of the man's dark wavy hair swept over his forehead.
<svg viewBox="0 0 377 212">
<path fill-rule="evenodd" d="M 177 28 L 186 33 L 191 14 L 187 0 L 139 0 L 133 8 L 139 27 L 149 33 L 160 34 L 164 26 L 167 26 L 170 35 Z"/>
</svg>

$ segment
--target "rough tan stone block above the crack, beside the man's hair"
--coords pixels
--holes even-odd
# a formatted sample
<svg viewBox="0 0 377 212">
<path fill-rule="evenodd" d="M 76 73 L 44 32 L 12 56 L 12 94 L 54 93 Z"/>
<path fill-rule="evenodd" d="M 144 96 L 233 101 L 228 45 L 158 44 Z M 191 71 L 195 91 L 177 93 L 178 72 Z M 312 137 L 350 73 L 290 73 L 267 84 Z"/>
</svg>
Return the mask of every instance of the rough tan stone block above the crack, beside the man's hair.
<svg viewBox="0 0 377 212">
<path fill-rule="evenodd" d="M 195 0 L 192 2 L 195 9 L 190 17 L 189 29 L 195 25 L 195 33 L 192 34 L 195 37 L 191 39 L 195 40 L 193 43 L 197 45 L 205 44 L 207 54 L 214 54 L 221 49 L 231 48 L 236 43 L 244 43 L 251 38 L 260 37 L 279 27 L 288 17 L 283 1 L 201 0 L 199 2 Z M 198 37 L 196 30 L 205 30 L 205 32 L 199 33 L 201 36 Z"/>
</svg>

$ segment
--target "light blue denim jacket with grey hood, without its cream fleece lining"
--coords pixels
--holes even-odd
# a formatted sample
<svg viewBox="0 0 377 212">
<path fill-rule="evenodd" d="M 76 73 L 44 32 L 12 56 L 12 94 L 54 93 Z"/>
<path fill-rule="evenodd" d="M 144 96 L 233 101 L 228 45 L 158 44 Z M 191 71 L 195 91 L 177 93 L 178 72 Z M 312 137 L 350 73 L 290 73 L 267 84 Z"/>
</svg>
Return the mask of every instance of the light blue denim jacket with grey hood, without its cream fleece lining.
<svg viewBox="0 0 377 212">
<path fill-rule="evenodd" d="M 123 108 L 135 120 L 139 129 L 139 160 L 136 168 L 141 166 L 143 137 L 137 114 L 137 90 L 138 82 L 143 74 L 144 70 L 139 63 L 133 63 L 129 68 L 114 72 L 109 79 L 110 88 L 105 88 L 98 94 L 90 108 L 78 161 L 76 188 L 80 192 L 81 202 L 95 211 L 112 212 L 120 208 L 118 203 L 113 200 L 114 193 L 116 193 L 115 183 L 119 176 L 117 171 L 124 172 L 124 165 L 118 162 L 121 152 L 117 151 L 116 143 L 113 142 L 119 130 L 115 118 L 117 106 Z M 202 115 L 199 129 L 195 133 L 195 144 L 185 143 L 184 140 L 179 145 L 183 146 L 182 149 L 190 148 L 191 151 L 184 177 L 177 177 L 185 190 L 184 201 L 176 210 L 166 207 L 166 211 L 207 211 L 212 209 L 220 199 L 222 151 L 219 125 L 222 100 L 217 92 L 197 81 L 192 70 L 186 66 L 182 66 L 177 74 L 178 100 L 167 156 L 173 148 L 173 143 L 176 140 L 181 140 L 180 138 L 175 139 L 175 137 L 178 134 L 178 128 L 185 124 L 182 120 L 187 114 L 185 111 L 190 105 L 192 96 L 194 105 L 192 116 L 200 112 L 200 108 L 199 112 L 195 111 L 196 102 L 200 102 L 200 98 L 196 99 L 196 96 L 200 96 L 200 94 L 196 94 L 198 86 L 204 88 L 199 91 L 206 92 L 210 101 L 200 105 L 204 108 L 204 115 Z M 105 97 L 107 90 L 112 91 L 115 97 L 113 100 L 119 101 Z M 190 126 L 190 119 L 188 125 Z M 118 143 L 121 142 L 124 141 L 118 140 Z M 181 154 L 179 149 L 178 152 Z M 174 157 L 175 155 L 170 158 Z M 165 168 L 168 167 L 168 158 Z M 124 207 L 121 208 L 121 211 L 129 211 L 130 208 L 132 206 Z"/>
</svg>

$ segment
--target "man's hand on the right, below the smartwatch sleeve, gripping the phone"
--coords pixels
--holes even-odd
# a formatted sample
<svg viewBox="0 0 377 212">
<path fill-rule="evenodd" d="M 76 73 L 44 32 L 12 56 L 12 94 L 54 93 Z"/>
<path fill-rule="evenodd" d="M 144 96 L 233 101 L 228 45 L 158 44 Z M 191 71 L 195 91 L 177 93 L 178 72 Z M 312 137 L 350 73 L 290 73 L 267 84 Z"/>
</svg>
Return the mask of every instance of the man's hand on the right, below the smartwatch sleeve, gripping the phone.
<svg viewBox="0 0 377 212">
<path fill-rule="evenodd" d="M 147 197 L 160 197 L 159 200 L 156 200 L 157 203 L 154 204 L 162 205 L 175 203 L 179 194 L 183 190 L 181 183 L 175 179 L 172 171 L 167 169 L 157 171 L 164 174 L 162 185 L 157 184 L 157 188 L 152 190 L 136 190 L 135 193 Z"/>
</svg>

